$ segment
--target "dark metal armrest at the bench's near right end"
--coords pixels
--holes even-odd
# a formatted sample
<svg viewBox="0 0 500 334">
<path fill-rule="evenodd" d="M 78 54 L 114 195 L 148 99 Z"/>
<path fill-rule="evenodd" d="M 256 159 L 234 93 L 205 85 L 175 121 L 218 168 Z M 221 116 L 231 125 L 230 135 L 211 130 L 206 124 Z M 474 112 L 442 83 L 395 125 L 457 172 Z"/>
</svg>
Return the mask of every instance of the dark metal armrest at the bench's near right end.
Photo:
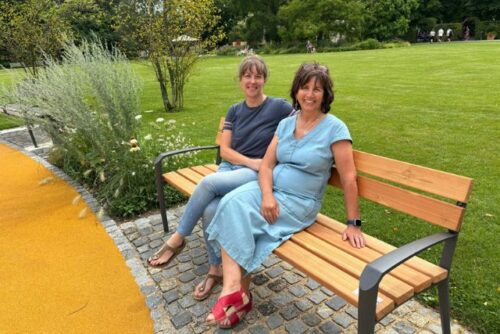
<svg viewBox="0 0 500 334">
<path fill-rule="evenodd" d="M 392 269 L 422 251 L 445 242 L 440 266 L 449 270 L 458 233 L 442 232 L 413 241 L 369 263 L 361 273 L 358 299 L 358 333 L 373 333 L 380 281 Z"/>
</svg>

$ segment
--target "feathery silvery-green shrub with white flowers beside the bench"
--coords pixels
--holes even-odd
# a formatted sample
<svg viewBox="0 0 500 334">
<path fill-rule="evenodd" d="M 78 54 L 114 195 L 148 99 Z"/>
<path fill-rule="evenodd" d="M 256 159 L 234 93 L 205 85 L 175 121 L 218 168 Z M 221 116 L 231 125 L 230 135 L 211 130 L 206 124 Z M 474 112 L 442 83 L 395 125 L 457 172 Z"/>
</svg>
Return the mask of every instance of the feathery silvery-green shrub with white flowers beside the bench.
<svg viewBox="0 0 500 334">
<path fill-rule="evenodd" d="M 157 119 L 147 134 L 139 133 L 140 91 L 140 79 L 118 50 L 83 41 L 65 44 L 61 64 L 47 59 L 46 69 L 12 94 L 51 136 L 52 160 L 95 190 L 112 215 L 130 216 L 156 205 L 153 159 L 188 144 L 175 121 Z M 171 159 L 167 168 L 181 162 Z"/>
</svg>

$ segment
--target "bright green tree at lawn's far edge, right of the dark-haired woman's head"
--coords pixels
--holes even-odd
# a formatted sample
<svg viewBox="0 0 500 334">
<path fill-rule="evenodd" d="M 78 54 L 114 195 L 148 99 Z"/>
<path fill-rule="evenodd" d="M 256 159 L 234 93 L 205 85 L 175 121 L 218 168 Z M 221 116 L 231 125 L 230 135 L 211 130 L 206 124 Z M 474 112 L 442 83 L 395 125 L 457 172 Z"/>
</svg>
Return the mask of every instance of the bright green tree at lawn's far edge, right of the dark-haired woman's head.
<svg viewBox="0 0 500 334">
<path fill-rule="evenodd" d="M 364 0 L 368 13 L 366 33 L 380 41 L 403 36 L 410 26 L 418 0 Z"/>
</svg>

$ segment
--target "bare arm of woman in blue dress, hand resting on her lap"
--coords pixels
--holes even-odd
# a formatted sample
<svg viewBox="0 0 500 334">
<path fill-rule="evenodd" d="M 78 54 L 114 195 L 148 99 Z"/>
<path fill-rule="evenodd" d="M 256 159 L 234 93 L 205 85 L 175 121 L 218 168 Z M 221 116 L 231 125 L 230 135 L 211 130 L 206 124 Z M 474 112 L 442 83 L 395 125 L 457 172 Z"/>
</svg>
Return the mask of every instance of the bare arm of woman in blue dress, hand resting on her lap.
<svg viewBox="0 0 500 334">
<path fill-rule="evenodd" d="M 278 160 L 276 159 L 276 147 L 278 146 L 278 137 L 274 136 L 269 144 L 266 155 L 262 159 L 259 169 L 259 185 L 262 191 L 262 203 L 260 212 L 269 224 L 278 219 L 279 205 L 273 194 L 273 168 Z"/>
</svg>

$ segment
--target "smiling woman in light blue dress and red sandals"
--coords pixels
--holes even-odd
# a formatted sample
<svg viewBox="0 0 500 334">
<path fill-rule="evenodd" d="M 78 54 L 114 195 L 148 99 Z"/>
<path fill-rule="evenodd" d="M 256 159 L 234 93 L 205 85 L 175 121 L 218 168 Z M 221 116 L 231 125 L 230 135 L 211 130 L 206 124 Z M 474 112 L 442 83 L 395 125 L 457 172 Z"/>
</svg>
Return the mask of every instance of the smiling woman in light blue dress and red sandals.
<svg viewBox="0 0 500 334">
<path fill-rule="evenodd" d="M 221 252 L 224 283 L 207 322 L 236 325 L 252 308 L 249 275 L 285 240 L 310 226 L 318 214 L 332 164 L 344 190 L 348 225 L 342 238 L 364 247 L 359 220 L 356 168 L 346 125 L 328 115 L 333 82 L 328 69 L 304 64 L 291 89 L 300 112 L 280 122 L 259 169 L 249 182 L 221 201 L 207 229 Z"/>
</svg>

